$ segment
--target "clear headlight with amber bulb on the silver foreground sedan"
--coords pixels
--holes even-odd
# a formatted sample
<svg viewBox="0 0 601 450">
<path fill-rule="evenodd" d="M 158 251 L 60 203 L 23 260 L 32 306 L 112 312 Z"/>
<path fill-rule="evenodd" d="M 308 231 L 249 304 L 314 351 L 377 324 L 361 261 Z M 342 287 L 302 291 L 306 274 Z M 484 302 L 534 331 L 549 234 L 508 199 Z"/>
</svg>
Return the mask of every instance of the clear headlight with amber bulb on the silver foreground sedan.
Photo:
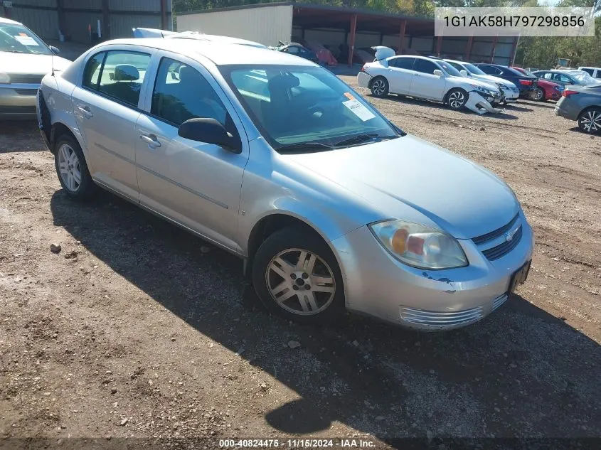
<svg viewBox="0 0 601 450">
<path fill-rule="evenodd" d="M 459 242 L 435 228 L 403 220 L 385 220 L 369 228 L 393 257 L 409 266 L 420 269 L 467 266 Z"/>
</svg>

